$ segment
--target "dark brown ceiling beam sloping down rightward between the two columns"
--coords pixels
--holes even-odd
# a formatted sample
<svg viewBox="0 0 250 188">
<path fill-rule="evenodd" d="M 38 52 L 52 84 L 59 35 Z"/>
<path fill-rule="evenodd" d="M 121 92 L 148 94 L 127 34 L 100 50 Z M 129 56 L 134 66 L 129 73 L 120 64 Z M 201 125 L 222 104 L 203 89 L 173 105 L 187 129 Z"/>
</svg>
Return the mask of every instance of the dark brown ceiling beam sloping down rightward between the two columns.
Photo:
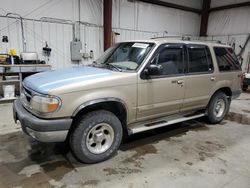
<svg viewBox="0 0 250 188">
<path fill-rule="evenodd" d="M 164 6 L 164 7 L 169 7 L 169 8 L 175 8 L 175 9 L 184 10 L 184 11 L 188 11 L 188 12 L 194 12 L 197 14 L 201 13 L 200 9 L 182 6 L 182 5 L 177 5 L 174 3 L 168 3 L 168 2 L 160 1 L 160 0 L 137 0 L 137 1 L 141 1 L 144 3 L 150 3 L 150 4 L 154 4 L 154 5 L 159 5 L 159 6 Z"/>
</svg>

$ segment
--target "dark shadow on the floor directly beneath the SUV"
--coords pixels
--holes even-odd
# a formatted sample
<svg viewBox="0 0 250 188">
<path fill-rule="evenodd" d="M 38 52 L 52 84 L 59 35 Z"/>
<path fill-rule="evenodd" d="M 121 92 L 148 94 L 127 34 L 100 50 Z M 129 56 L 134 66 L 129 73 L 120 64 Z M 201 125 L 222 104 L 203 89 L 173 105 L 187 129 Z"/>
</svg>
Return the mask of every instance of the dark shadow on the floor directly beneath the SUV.
<svg viewBox="0 0 250 188">
<path fill-rule="evenodd" d="M 209 130 L 206 119 L 199 118 L 131 135 L 123 140 L 119 150 L 127 151 L 143 145 L 153 144 L 161 140 L 168 140 L 171 137 L 179 137 L 190 130 Z M 29 158 L 36 163 L 53 161 L 60 158 L 76 166 L 86 165 L 75 159 L 68 142 L 41 143 L 29 138 L 29 143 L 31 146 L 31 149 L 29 150 Z"/>
</svg>

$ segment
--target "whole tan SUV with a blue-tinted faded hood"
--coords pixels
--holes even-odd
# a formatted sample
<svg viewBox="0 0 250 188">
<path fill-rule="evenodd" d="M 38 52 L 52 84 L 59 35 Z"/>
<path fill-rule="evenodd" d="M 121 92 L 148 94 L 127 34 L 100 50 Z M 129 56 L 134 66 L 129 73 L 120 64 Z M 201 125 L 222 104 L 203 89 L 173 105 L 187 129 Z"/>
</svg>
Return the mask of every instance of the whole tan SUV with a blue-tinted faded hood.
<svg viewBox="0 0 250 188">
<path fill-rule="evenodd" d="M 122 42 L 90 66 L 27 77 L 14 118 L 31 137 L 68 140 L 80 161 L 95 163 L 110 158 L 125 135 L 201 116 L 222 121 L 241 93 L 241 74 L 226 45 Z"/>
</svg>

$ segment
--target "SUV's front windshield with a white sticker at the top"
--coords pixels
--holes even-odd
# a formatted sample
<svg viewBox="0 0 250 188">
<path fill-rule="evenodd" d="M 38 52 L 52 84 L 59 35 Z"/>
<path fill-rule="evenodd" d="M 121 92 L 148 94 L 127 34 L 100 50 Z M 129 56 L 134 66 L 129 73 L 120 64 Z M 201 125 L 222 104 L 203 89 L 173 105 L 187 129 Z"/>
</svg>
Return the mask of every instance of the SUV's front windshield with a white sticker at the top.
<svg viewBox="0 0 250 188">
<path fill-rule="evenodd" d="M 95 63 L 119 71 L 134 71 L 141 65 L 153 45 L 142 42 L 118 43 L 106 50 Z"/>
</svg>

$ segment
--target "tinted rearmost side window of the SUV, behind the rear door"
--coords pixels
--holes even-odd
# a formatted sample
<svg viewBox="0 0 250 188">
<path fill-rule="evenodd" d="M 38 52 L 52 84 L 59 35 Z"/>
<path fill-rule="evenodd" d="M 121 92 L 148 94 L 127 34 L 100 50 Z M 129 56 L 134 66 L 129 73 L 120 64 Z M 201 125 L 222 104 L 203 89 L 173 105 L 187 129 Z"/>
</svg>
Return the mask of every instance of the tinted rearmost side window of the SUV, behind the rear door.
<svg viewBox="0 0 250 188">
<path fill-rule="evenodd" d="M 231 48 L 215 47 L 214 52 L 216 55 L 218 67 L 220 71 L 234 71 L 240 70 L 240 64 L 236 55 Z"/>
</svg>

